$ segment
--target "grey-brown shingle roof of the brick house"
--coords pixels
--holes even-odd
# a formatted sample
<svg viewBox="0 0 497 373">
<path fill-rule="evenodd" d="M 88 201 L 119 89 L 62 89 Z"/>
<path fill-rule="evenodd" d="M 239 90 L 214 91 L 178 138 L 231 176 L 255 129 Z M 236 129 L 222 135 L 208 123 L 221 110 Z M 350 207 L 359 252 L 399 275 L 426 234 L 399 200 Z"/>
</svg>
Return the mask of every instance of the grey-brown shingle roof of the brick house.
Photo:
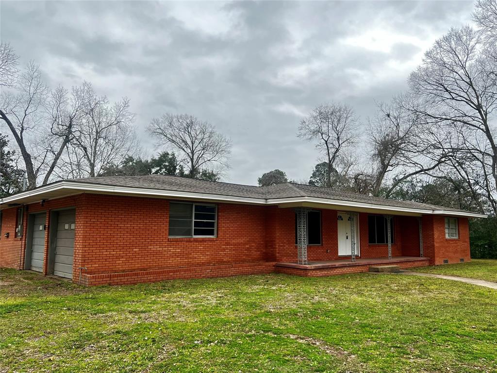
<svg viewBox="0 0 497 373">
<path fill-rule="evenodd" d="M 350 193 L 332 188 L 313 187 L 309 185 L 284 183 L 269 187 L 255 187 L 250 185 L 210 182 L 206 180 L 181 178 L 170 175 L 149 176 L 116 176 L 72 179 L 71 182 L 100 184 L 119 187 L 149 188 L 158 190 L 174 190 L 192 193 L 208 193 L 234 197 L 248 197 L 260 199 L 276 199 L 291 197 L 317 197 L 341 201 L 368 203 L 373 205 L 416 208 L 423 210 L 464 211 L 450 207 L 436 206 L 413 201 L 399 201 L 373 197 L 364 194 Z"/>
</svg>

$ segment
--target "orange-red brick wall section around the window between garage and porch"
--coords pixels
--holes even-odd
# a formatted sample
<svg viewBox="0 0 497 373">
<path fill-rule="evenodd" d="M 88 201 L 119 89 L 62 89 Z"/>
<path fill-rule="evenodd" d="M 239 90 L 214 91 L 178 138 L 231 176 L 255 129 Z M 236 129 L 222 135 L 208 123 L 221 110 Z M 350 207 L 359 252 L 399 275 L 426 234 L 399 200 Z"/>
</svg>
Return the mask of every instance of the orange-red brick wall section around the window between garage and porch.
<svg viewBox="0 0 497 373">
<path fill-rule="evenodd" d="M 168 238 L 168 201 L 84 196 L 87 274 L 263 262 L 264 207 L 218 204 L 216 238 Z M 109 213 L 111 216 L 109 216 Z"/>
</svg>

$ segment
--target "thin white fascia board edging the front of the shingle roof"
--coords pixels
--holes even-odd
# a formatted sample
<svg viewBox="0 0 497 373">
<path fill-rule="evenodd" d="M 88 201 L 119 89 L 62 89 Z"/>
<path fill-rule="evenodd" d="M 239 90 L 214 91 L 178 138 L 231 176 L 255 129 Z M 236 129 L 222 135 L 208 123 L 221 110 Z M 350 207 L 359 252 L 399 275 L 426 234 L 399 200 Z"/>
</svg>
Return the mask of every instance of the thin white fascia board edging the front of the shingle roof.
<svg viewBox="0 0 497 373">
<path fill-rule="evenodd" d="M 235 203 L 249 203 L 249 204 L 258 204 L 258 205 L 279 205 L 285 203 L 295 203 L 295 202 L 311 202 L 311 203 L 322 203 L 322 204 L 330 204 L 330 205 L 340 205 L 340 206 L 348 206 L 348 207 L 357 207 L 357 208 L 375 208 L 385 211 L 398 211 L 398 212 L 411 212 L 418 214 L 433 214 L 433 215 L 453 215 L 453 216 L 468 216 L 468 217 L 487 217 L 484 214 L 478 214 L 473 212 L 464 212 L 464 211 L 450 211 L 450 210 L 425 210 L 418 208 L 410 208 L 410 207 L 396 207 L 396 206 L 385 206 L 374 203 L 363 203 L 363 202 L 353 202 L 346 200 L 338 200 L 338 199 L 328 199 L 328 198 L 317 198 L 317 197 L 290 197 L 290 198 L 252 198 L 252 197 L 238 197 L 238 196 L 230 196 L 230 195 L 221 195 L 221 194 L 209 194 L 209 193 L 192 193 L 186 191 L 177 191 L 177 190 L 161 190 L 161 189 L 152 189 L 152 188 L 137 188 L 137 187 L 119 187 L 119 186 L 109 186 L 103 184 L 90 184 L 90 183 L 81 183 L 81 182 L 70 182 L 70 181 L 61 181 L 56 182 L 54 184 L 50 184 L 44 187 L 39 187 L 34 190 L 26 190 L 21 193 L 17 193 L 11 195 L 9 197 L 3 198 L 0 200 L 0 203 L 11 203 L 15 202 L 19 199 L 25 197 L 32 197 L 35 195 L 53 192 L 59 189 L 71 189 L 71 190 L 80 190 L 84 191 L 93 191 L 100 193 L 122 193 L 122 194 L 138 194 L 138 195 L 149 195 L 149 196 L 162 196 L 169 198 L 192 198 L 192 199 L 210 199 L 216 201 L 225 201 L 225 202 L 235 202 Z M 74 194 L 74 192 L 72 193 Z"/>
</svg>

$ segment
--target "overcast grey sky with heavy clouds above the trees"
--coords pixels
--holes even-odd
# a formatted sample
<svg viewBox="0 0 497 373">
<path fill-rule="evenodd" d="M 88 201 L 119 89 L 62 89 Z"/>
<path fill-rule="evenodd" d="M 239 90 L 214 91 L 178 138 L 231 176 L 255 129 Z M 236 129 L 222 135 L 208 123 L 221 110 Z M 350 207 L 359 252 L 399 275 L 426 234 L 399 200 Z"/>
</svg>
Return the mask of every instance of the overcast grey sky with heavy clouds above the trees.
<svg viewBox="0 0 497 373">
<path fill-rule="evenodd" d="M 225 181 L 256 184 L 279 168 L 308 179 L 318 161 L 296 137 L 320 103 L 351 105 L 406 88 L 423 52 L 468 23 L 471 1 L 5 1 L 0 37 L 50 86 L 83 80 L 128 96 L 146 153 L 154 116 L 190 113 L 232 139 Z M 363 148 L 363 147 L 361 147 Z"/>
</svg>

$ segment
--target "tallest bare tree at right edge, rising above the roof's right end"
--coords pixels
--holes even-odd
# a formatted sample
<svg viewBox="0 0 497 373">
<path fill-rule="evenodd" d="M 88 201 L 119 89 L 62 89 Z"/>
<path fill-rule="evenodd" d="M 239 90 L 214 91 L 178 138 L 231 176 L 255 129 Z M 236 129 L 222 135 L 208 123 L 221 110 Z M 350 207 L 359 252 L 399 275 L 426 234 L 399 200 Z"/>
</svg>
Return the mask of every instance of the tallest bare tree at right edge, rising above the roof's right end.
<svg viewBox="0 0 497 373">
<path fill-rule="evenodd" d="M 425 54 L 410 87 L 424 101 L 414 108 L 431 128 L 433 152 L 444 152 L 438 168 L 455 170 L 497 214 L 496 59 L 469 26 L 451 29 Z M 437 170 L 433 170 L 437 171 Z"/>
</svg>

